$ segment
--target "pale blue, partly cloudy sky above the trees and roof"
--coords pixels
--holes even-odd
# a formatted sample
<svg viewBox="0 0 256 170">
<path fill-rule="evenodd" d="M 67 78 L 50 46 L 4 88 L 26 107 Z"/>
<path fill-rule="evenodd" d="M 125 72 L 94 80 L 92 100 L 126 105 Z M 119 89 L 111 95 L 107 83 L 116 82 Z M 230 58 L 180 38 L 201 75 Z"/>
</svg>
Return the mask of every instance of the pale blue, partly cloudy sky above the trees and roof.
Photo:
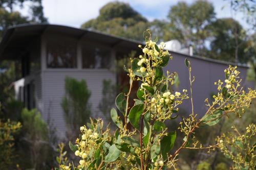
<svg viewBox="0 0 256 170">
<path fill-rule="evenodd" d="M 145 16 L 148 20 L 165 19 L 170 6 L 180 2 L 179 0 L 120 0 L 129 3 L 136 11 Z M 246 28 L 246 22 L 241 13 L 232 14 L 229 1 L 208 0 L 215 7 L 217 17 L 233 17 L 240 21 Z M 99 9 L 111 0 L 42 0 L 44 13 L 50 23 L 66 25 L 79 28 L 81 24 L 99 14 Z M 195 0 L 184 0 L 188 4 Z M 224 9 L 222 7 L 225 6 Z M 25 5 L 26 7 L 26 5 Z M 23 9 L 24 15 L 28 10 Z"/>
</svg>

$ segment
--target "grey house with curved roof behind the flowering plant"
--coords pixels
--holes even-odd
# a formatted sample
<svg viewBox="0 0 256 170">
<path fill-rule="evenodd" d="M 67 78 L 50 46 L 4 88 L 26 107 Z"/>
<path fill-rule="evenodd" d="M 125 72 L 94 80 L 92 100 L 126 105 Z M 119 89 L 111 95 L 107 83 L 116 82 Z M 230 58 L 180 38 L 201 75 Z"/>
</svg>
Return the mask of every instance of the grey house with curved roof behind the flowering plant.
<svg viewBox="0 0 256 170">
<path fill-rule="evenodd" d="M 27 108 L 37 108 L 44 119 L 51 118 L 60 136 L 65 135 L 66 124 L 60 106 L 65 94 L 65 77 L 87 81 L 92 92 L 92 112 L 98 112 L 102 98 L 102 81 L 117 82 L 115 60 L 127 57 L 131 51 L 140 53 L 141 42 L 111 36 L 96 31 L 66 26 L 34 24 L 9 28 L 0 44 L 1 60 L 20 61 L 22 78 L 14 82 L 15 95 Z M 215 81 L 224 79 L 223 70 L 228 62 L 172 52 L 173 60 L 165 71 L 177 71 L 180 86 L 176 90 L 189 89 L 185 58 L 192 63 L 196 81 L 193 84 L 195 112 L 205 110 L 204 100 L 216 92 Z M 247 66 L 240 65 L 243 85 Z M 183 110 L 189 112 L 190 105 L 184 103 Z"/>
</svg>

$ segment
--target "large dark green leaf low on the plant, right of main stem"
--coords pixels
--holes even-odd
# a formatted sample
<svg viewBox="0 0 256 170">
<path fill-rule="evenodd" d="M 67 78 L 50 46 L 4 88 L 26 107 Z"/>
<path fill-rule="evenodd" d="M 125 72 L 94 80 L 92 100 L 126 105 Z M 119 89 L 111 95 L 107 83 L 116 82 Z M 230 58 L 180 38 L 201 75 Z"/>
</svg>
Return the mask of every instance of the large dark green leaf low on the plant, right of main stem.
<svg viewBox="0 0 256 170">
<path fill-rule="evenodd" d="M 164 136 L 160 141 L 163 160 L 167 159 L 167 153 L 169 153 L 170 150 L 172 150 L 172 148 L 174 147 L 175 139 L 176 139 L 176 131 L 172 131 L 168 133 L 167 136 Z"/>
</svg>

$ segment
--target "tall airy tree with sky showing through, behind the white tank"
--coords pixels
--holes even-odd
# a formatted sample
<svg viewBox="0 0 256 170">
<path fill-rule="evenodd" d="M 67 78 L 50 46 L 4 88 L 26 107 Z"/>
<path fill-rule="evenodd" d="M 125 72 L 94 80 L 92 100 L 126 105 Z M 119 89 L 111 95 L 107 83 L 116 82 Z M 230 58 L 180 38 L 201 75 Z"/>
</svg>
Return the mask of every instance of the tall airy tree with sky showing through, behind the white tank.
<svg viewBox="0 0 256 170">
<path fill-rule="evenodd" d="M 186 47 L 193 45 L 197 55 L 205 56 L 205 40 L 209 35 L 206 26 L 215 19 L 214 6 L 207 1 L 196 1 L 190 6 L 180 2 L 170 8 L 167 18 L 165 37 L 178 39 Z"/>
</svg>

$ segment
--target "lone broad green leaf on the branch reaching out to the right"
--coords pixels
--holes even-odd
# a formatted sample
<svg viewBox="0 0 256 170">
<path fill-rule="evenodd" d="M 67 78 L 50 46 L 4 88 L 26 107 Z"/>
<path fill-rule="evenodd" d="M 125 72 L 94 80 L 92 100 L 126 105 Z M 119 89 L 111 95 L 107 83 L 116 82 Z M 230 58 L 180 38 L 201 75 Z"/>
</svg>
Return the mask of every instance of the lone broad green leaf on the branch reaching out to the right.
<svg viewBox="0 0 256 170">
<path fill-rule="evenodd" d="M 213 126 L 220 122 L 222 111 L 215 110 L 212 114 L 206 114 L 201 118 L 200 126 Z"/>
</svg>

